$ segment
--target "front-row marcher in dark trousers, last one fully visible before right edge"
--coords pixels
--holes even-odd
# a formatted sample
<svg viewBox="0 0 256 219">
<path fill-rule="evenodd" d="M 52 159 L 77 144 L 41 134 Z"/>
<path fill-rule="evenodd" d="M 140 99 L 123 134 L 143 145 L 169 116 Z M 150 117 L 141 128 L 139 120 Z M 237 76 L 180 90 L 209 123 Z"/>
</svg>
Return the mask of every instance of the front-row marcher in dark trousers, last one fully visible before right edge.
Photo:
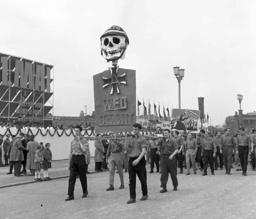
<svg viewBox="0 0 256 219">
<path fill-rule="evenodd" d="M 239 128 L 240 135 L 236 138 L 236 153 L 239 154 L 243 173 L 247 176 L 248 152 L 251 155 L 251 139 L 244 132 L 244 127 Z"/>
</svg>

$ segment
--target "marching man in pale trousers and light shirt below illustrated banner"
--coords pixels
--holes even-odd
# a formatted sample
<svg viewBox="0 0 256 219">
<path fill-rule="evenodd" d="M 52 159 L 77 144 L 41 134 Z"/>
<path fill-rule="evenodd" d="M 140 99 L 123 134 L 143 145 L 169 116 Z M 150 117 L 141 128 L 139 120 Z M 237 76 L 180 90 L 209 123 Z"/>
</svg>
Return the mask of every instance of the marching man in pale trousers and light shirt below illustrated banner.
<svg viewBox="0 0 256 219">
<path fill-rule="evenodd" d="M 197 153 L 197 143 L 196 139 L 193 139 L 193 134 L 188 133 L 188 139 L 183 143 L 184 153 L 186 154 L 186 165 L 187 165 L 187 174 L 190 175 L 190 161 L 196 174 L 196 153 Z"/>
</svg>

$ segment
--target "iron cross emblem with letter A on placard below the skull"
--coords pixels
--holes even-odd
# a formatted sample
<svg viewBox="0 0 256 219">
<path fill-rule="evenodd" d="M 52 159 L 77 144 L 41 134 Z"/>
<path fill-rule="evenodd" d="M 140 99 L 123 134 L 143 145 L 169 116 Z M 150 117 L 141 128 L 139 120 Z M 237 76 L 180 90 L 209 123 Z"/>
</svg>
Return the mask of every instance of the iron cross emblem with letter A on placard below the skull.
<svg viewBox="0 0 256 219">
<path fill-rule="evenodd" d="M 120 84 L 126 84 L 127 82 L 127 77 L 126 74 L 121 74 L 120 76 L 117 76 L 118 72 L 118 67 L 112 67 L 108 68 L 110 71 L 110 76 L 111 77 L 102 77 L 102 82 L 103 82 L 103 88 L 110 86 L 111 90 L 109 94 L 119 94 L 119 87 L 118 85 Z"/>
</svg>

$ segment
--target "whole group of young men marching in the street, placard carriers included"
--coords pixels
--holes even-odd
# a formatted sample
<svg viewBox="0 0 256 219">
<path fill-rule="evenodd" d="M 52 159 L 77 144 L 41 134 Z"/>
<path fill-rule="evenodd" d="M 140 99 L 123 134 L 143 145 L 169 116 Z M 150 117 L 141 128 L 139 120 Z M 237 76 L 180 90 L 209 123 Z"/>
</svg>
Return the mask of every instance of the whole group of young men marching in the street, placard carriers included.
<svg viewBox="0 0 256 219">
<path fill-rule="evenodd" d="M 177 191 L 177 161 L 180 167 L 180 174 L 183 173 L 183 154 L 185 155 L 185 163 L 187 174 L 190 175 L 192 166 L 194 174 L 196 174 L 196 161 L 200 164 L 200 171 L 203 171 L 203 176 L 207 176 L 208 164 L 210 165 L 211 173 L 214 175 L 214 170 L 218 168 L 218 157 L 220 161 L 220 169 L 225 164 L 226 174 L 231 175 L 231 165 L 233 156 L 236 153 L 239 155 L 242 175 L 247 175 L 248 154 L 254 155 L 253 170 L 255 170 L 255 145 L 256 133 L 253 129 L 253 134 L 248 136 L 244 132 L 244 128 L 239 129 L 239 135 L 234 137 L 230 133 L 230 129 L 225 129 L 225 134 L 220 135 L 220 132 L 215 133 L 215 137 L 211 132 L 205 130 L 200 131 L 200 136 L 194 138 L 192 133 L 187 136 L 179 136 L 178 131 L 174 131 L 171 136 L 170 129 L 164 129 L 163 138 L 159 140 L 146 140 L 140 134 L 141 125 L 133 124 L 133 135 L 128 137 L 125 142 L 110 140 L 107 151 L 107 163 L 109 160 L 109 188 L 107 191 L 114 190 L 114 174 L 117 167 L 121 185 L 119 189 L 124 188 L 124 154 L 128 154 L 128 173 L 129 173 L 129 190 L 130 199 L 127 204 L 136 202 L 136 176 L 138 176 L 141 184 L 142 197 L 140 200 L 148 199 L 147 187 L 147 172 L 145 155 L 150 155 L 150 172 L 154 172 L 154 164 L 156 164 L 156 172 L 161 171 L 160 193 L 167 192 L 167 182 L 169 173 L 171 175 L 173 191 Z M 76 138 L 71 142 L 70 149 L 70 176 L 68 184 L 68 195 L 66 201 L 74 199 L 74 187 L 76 182 L 76 172 L 83 188 L 83 198 L 87 197 L 87 178 L 85 174 L 85 162 L 83 154 L 88 150 L 88 142 L 80 135 L 81 127 L 75 127 Z M 148 149 L 148 150 L 147 150 Z M 124 154 L 122 154 L 122 151 Z M 160 160 L 160 165 L 159 165 Z"/>
</svg>

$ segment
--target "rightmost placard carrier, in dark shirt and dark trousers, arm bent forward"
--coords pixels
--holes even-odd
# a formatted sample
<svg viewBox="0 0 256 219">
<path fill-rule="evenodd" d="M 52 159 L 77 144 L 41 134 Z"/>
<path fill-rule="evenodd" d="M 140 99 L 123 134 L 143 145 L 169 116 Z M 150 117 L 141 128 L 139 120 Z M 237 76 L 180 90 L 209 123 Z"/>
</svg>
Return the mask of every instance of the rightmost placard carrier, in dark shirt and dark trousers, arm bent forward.
<svg viewBox="0 0 256 219">
<path fill-rule="evenodd" d="M 163 154 L 162 161 L 162 174 L 161 174 L 161 185 L 163 189 L 160 193 L 167 192 L 167 181 L 169 173 L 171 174 L 173 191 L 177 191 L 178 179 L 177 179 L 177 156 L 179 146 L 177 143 L 170 138 L 170 129 L 164 129 L 164 139 L 158 142 L 157 151 L 158 154 Z"/>
</svg>

